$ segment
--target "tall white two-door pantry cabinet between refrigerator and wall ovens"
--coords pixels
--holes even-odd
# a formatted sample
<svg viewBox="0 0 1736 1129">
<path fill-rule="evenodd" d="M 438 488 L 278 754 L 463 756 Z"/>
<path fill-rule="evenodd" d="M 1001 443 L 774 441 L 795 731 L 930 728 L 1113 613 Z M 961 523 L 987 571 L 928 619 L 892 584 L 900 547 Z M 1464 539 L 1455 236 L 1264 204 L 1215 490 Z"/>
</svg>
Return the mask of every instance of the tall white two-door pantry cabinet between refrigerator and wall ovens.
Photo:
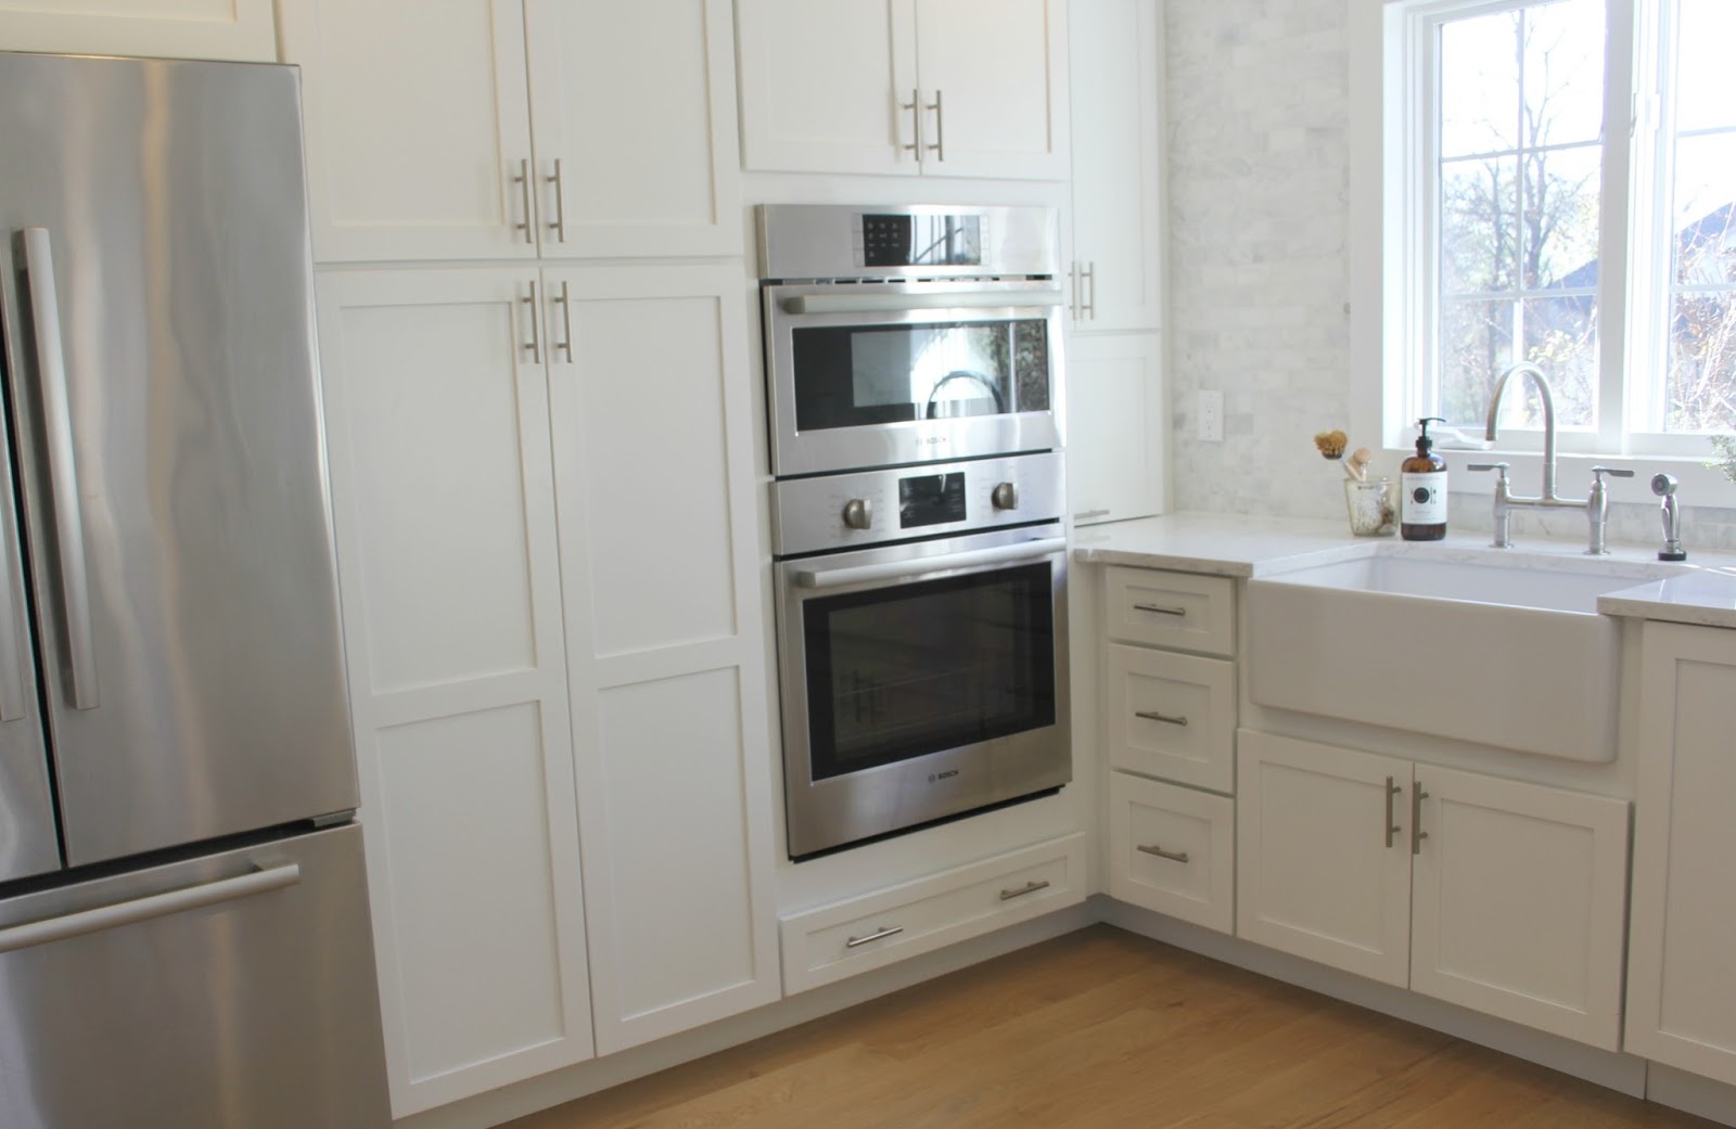
<svg viewBox="0 0 1736 1129">
<path fill-rule="evenodd" d="M 394 1113 L 774 1001 L 740 269 L 318 286 Z"/>
</svg>

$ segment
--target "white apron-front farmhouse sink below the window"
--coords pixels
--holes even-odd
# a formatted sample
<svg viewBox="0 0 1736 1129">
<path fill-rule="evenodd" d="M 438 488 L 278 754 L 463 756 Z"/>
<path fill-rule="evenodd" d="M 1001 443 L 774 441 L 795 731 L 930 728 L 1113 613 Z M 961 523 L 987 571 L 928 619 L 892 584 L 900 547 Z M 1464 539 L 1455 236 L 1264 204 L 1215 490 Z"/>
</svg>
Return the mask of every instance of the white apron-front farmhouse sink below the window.
<svg viewBox="0 0 1736 1129">
<path fill-rule="evenodd" d="M 1642 562 L 1378 555 L 1248 581 L 1260 706 L 1484 746 L 1609 761 L 1618 623 L 1597 597 Z"/>
</svg>

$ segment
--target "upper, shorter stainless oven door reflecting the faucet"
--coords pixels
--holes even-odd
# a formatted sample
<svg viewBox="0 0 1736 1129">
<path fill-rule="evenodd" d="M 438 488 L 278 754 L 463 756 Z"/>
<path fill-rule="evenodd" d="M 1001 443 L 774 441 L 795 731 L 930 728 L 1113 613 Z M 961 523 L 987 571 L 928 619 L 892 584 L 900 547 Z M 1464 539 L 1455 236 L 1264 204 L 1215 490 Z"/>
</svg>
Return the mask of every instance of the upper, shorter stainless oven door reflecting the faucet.
<svg viewBox="0 0 1736 1129">
<path fill-rule="evenodd" d="M 779 477 L 1061 446 L 1052 281 L 774 284 L 764 298 Z"/>
</svg>

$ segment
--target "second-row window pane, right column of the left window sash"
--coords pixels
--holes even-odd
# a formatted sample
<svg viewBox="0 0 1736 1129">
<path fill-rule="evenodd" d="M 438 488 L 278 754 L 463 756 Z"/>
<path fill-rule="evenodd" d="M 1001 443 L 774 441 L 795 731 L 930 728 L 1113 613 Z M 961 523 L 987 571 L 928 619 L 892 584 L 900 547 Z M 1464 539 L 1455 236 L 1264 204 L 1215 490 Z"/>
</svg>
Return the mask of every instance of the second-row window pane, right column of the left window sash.
<svg viewBox="0 0 1736 1129">
<path fill-rule="evenodd" d="M 1524 161 L 1524 288 L 1597 286 L 1599 149 L 1545 149 Z"/>
</svg>

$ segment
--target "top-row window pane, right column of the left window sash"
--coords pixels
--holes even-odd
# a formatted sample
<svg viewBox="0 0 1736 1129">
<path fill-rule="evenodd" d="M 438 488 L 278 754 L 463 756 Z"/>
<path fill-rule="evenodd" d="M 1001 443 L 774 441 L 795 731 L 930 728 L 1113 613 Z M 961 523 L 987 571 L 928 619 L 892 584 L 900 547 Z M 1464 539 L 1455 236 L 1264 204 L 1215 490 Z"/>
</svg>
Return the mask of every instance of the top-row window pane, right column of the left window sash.
<svg viewBox="0 0 1736 1129">
<path fill-rule="evenodd" d="M 1526 146 L 1597 140 L 1604 123 L 1604 3 L 1524 9 Z"/>
</svg>

